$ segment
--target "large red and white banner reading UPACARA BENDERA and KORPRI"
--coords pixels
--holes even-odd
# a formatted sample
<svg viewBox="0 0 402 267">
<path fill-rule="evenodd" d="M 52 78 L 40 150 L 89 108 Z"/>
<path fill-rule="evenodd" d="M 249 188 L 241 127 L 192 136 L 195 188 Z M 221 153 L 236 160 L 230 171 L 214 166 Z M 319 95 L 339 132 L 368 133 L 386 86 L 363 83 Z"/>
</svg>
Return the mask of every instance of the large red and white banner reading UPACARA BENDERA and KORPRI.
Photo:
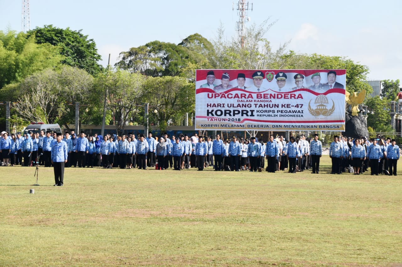
<svg viewBox="0 0 402 267">
<path fill-rule="evenodd" d="M 196 72 L 195 129 L 345 130 L 346 70 Z"/>
</svg>

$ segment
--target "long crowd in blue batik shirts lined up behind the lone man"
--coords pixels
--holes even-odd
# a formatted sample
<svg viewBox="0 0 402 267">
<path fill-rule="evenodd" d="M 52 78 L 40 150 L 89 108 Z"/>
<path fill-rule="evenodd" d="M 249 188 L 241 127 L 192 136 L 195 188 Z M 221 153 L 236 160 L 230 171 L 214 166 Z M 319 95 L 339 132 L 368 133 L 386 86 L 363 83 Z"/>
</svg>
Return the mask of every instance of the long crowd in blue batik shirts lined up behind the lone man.
<svg viewBox="0 0 402 267">
<path fill-rule="evenodd" d="M 74 131 L 66 131 L 62 141 L 67 146 L 65 167 L 77 168 L 121 168 L 166 170 L 189 169 L 202 171 L 212 166 L 214 171 L 285 171 L 289 173 L 312 170 L 320 172 L 322 143 L 318 134 L 314 138 L 304 135 L 285 140 L 283 136 L 270 136 L 265 143 L 255 137 L 222 140 L 217 134 L 211 137 L 193 134 L 154 138 L 152 132 L 144 135 L 127 134 L 117 136 L 94 134 L 87 136 L 84 131 L 76 136 Z M 1 136 L 0 160 L 2 166 L 52 166 L 52 147 L 57 140 L 56 133 L 21 133 Z M 371 168 L 371 175 L 396 175 L 399 147 L 395 140 L 377 136 L 371 141 L 365 137 L 347 138 L 335 136 L 330 144 L 329 156 L 332 160 L 331 174 L 341 174 L 353 168 L 355 175 Z M 267 167 L 265 168 L 265 159 Z M 54 164 L 53 164 L 54 165 Z"/>
</svg>

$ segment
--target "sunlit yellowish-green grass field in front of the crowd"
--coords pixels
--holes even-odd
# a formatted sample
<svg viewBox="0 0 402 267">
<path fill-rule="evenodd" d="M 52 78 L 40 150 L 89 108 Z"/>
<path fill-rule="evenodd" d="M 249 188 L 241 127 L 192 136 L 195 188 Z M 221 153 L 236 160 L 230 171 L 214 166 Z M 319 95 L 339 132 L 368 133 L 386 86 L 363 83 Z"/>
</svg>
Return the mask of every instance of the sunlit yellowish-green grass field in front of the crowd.
<svg viewBox="0 0 402 267">
<path fill-rule="evenodd" d="M 399 162 L 401 163 L 401 162 Z M 0 167 L 0 266 L 402 266 L 398 176 Z M 35 189 L 35 194 L 29 194 Z"/>
</svg>

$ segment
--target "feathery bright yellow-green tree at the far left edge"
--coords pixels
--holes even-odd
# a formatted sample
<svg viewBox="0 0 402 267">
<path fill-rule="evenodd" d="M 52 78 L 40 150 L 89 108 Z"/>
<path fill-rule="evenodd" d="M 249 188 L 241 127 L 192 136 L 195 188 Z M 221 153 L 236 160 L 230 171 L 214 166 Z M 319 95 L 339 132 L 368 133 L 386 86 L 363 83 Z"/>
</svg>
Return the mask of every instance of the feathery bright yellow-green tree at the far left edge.
<svg viewBox="0 0 402 267">
<path fill-rule="evenodd" d="M 58 48 L 36 44 L 33 36 L 0 31 L 0 89 L 37 71 L 58 67 L 62 59 Z"/>
</svg>

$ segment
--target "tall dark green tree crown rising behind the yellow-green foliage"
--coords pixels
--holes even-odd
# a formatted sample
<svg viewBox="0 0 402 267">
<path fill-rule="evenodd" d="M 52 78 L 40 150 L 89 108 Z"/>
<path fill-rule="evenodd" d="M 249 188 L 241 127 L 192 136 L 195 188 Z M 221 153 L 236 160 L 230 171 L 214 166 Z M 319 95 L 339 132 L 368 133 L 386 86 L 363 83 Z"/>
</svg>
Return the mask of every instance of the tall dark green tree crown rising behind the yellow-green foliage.
<svg viewBox="0 0 402 267">
<path fill-rule="evenodd" d="M 102 66 L 98 64 L 101 56 L 98 54 L 96 43 L 88 39 L 82 30 L 57 28 L 53 25 L 36 27 L 27 32 L 27 36 L 35 36 L 37 44 L 51 44 L 60 48 L 60 54 L 65 56 L 63 64 L 84 69 L 91 75 L 98 73 Z"/>
</svg>

